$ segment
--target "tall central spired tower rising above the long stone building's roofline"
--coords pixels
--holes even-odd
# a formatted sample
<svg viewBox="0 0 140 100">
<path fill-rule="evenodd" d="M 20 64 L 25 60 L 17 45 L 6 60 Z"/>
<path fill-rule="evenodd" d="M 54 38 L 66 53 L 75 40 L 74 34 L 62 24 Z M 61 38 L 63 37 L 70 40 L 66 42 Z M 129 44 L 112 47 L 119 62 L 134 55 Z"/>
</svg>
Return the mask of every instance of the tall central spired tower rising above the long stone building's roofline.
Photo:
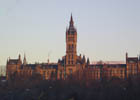
<svg viewBox="0 0 140 100">
<path fill-rule="evenodd" d="M 66 66 L 75 66 L 77 59 L 77 30 L 71 15 L 69 28 L 66 30 Z"/>
</svg>

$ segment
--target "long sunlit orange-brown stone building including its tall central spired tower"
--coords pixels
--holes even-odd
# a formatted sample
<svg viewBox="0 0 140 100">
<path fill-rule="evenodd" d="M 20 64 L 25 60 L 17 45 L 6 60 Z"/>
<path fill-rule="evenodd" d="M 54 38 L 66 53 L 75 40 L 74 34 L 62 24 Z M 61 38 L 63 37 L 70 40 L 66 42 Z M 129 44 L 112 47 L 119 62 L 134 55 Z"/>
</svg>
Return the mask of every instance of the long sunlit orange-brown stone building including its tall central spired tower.
<svg viewBox="0 0 140 100">
<path fill-rule="evenodd" d="M 77 55 L 77 30 L 71 16 L 69 28 L 66 29 L 66 55 L 57 63 L 35 63 L 27 64 L 26 57 L 22 61 L 8 59 L 6 65 L 6 78 L 16 75 L 20 78 L 32 77 L 39 74 L 44 80 L 101 80 L 118 77 L 121 79 L 137 76 L 140 73 L 140 57 L 128 57 L 126 53 L 126 64 L 90 64 L 89 59 Z"/>
</svg>

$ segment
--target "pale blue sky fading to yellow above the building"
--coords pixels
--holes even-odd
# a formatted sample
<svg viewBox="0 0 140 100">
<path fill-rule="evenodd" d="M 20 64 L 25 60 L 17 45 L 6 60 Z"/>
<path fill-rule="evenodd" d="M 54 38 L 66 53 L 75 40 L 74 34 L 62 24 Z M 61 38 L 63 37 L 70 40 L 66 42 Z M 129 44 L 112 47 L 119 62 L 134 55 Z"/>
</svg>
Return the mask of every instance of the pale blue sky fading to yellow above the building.
<svg viewBox="0 0 140 100">
<path fill-rule="evenodd" d="M 140 0 L 0 0 L 0 65 L 24 53 L 28 63 L 65 55 L 72 13 L 77 54 L 125 61 L 140 54 Z"/>
</svg>

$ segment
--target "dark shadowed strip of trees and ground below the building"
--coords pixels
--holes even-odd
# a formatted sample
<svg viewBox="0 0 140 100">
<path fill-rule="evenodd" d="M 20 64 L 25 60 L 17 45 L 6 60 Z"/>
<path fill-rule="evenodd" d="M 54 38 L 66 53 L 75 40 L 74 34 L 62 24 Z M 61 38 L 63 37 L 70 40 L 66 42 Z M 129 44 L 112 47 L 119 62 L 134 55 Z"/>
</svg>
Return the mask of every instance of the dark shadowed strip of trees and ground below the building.
<svg viewBox="0 0 140 100">
<path fill-rule="evenodd" d="M 133 79 L 133 80 L 132 80 Z M 0 100 L 140 100 L 140 78 L 0 82 Z"/>
</svg>

